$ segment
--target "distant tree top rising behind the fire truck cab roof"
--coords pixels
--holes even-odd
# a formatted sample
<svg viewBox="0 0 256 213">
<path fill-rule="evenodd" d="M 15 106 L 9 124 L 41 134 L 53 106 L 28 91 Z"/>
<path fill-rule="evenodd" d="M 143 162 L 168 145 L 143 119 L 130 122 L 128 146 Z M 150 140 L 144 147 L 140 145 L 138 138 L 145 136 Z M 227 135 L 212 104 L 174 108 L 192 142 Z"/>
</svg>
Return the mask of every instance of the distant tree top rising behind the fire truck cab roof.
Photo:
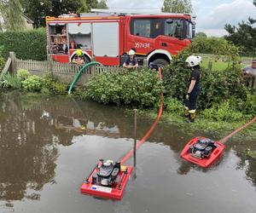
<svg viewBox="0 0 256 213">
<path fill-rule="evenodd" d="M 192 13 L 192 3 L 190 0 L 164 0 L 162 12 L 165 13 Z"/>
</svg>

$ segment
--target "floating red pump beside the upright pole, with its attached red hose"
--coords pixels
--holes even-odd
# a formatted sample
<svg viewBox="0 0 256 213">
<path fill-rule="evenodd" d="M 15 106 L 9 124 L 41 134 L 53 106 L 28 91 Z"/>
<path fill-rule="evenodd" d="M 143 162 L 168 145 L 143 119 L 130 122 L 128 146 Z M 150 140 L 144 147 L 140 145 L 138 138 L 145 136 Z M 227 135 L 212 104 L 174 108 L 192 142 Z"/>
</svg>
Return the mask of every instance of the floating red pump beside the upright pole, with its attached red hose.
<svg viewBox="0 0 256 213">
<path fill-rule="evenodd" d="M 159 78 L 161 79 L 161 69 L 158 69 Z M 124 166 L 125 161 L 131 158 L 132 154 L 135 159 L 136 150 L 143 145 L 143 143 L 148 139 L 149 135 L 153 132 L 156 124 L 158 124 L 162 112 L 163 112 L 163 93 L 160 95 L 160 109 L 157 118 L 154 123 L 150 126 L 148 132 L 143 136 L 143 138 L 137 142 L 136 133 L 136 111 L 135 110 L 135 137 L 134 137 L 134 148 L 125 154 L 123 158 L 118 162 L 113 162 L 113 160 L 103 160 L 100 159 L 96 164 L 94 169 L 90 172 L 90 175 L 83 182 L 80 187 L 81 193 L 90 194 L 95 197 L 106 198 L 106 199 L 122 199 L 125 192 L 125 186 L 131 177 L 133 170 L 132 166 Z"/>
</svg>

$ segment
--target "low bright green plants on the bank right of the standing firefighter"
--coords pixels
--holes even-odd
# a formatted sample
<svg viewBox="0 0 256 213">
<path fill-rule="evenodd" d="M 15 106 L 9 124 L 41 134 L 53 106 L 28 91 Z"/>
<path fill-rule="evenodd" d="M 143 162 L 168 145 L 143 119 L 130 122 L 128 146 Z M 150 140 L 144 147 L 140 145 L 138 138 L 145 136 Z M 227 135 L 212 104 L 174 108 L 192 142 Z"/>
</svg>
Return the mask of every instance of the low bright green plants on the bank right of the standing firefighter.
<svg viewBox="0 0 256 213">
<path fill-rule="evenodd" d="M 210 109 L 206 109 L 202 112 L 202 115 L 207 119 L 227 122 L 239 121 L 243 118 L 242 112 L 237 112 L 230 107 L 229 101 L 225 101 L 219 106 L 213 106 Z"/>
</svg>

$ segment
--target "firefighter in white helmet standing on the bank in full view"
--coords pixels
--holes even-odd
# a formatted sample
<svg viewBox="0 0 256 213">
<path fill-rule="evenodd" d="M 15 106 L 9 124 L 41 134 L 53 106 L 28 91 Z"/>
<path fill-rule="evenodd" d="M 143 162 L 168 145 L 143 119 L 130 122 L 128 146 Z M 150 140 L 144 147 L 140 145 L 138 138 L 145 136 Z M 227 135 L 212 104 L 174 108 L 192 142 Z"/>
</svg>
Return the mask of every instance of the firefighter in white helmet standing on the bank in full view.
<svg viewBox="0 0 256 213">
<path fill-rule="evenodd" d="M 188 118 L 187 122 L 195 121 L 196 99 L 200 93 L 200 63 L 201 56 L 190 55 L 186 62 L 191 70 L 189 78 L 189 88 L 184 100 L 184 116 Z"/>
</svg>

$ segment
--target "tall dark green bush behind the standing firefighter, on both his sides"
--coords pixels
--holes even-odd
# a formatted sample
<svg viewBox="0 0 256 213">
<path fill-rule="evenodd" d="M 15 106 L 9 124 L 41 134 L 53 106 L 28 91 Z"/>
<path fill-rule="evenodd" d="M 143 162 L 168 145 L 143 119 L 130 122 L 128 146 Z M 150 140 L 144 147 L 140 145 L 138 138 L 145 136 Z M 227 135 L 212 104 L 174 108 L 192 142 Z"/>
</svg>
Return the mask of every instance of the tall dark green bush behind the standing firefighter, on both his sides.
<svg viewBox="0 0 256 213">
<path fill-rule="evenodd" d="M 186 67 L 185 59 L 190 55 L 188 50 L 177 55 L 172 65 L 163 70 L 165 94 L 182 101 L 189 87 L 190 70 Z M 247 89 L 241 77 L 239 66 L 230 67 L 224 72 L 207 71 L 201 68 L 201 94 L 197 101 L 198 108 L 205 109 L 228 100 L 231 96 L 242 101 L 247 100 Z"/>
</svg>

